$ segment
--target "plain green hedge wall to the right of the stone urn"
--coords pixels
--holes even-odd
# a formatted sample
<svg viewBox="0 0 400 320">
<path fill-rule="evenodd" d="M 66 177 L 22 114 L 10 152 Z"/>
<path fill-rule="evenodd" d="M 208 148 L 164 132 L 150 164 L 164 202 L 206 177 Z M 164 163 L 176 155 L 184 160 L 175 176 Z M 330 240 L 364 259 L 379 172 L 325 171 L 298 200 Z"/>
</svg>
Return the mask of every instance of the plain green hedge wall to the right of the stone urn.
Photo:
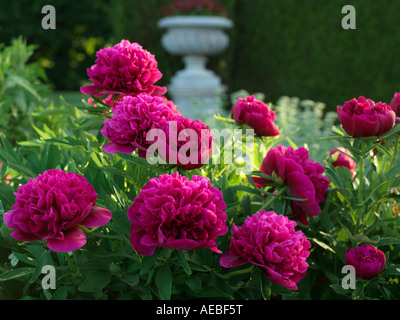
<svg viewBox="0 0 400 320">
<path fill-rule="evenodd" d="M 354 5 L 357 29 L 344 30 Z M 247 0 L 236 7 L 231 87 L 337 104 L 400 90 L 400 1 Z M 240 17 L 240 18 L 239 18 Z"/>
</svg>

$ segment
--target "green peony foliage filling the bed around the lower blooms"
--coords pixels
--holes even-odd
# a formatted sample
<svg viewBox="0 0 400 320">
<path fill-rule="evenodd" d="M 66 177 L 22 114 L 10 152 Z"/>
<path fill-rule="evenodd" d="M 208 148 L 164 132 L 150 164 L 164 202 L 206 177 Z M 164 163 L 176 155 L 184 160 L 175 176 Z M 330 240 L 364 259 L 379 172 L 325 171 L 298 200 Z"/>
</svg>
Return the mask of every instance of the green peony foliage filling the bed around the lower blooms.
<svg viewBox="0 0 400 320">
<path fill-rule="evenodd" d="M 278 143 L 294 145 L 294 140 L 299 145 L 308 143 L 301 140 L 301 135 L 297 137 L 292 131 L 293 124 L 285 120 L 293 105 L 310 104 L 294 98 L 282 98 L 276 104 L 276 109 L 282 112 L 281 116 L 278 114 L 282 134 L 256 139 L 256 166 L 266 151 Z M 85 176 L 99 194 L 98 204 L 113 213 L 112 221 L 106 226 L 86 230 L 87 244 L 72 253 L 52 252 L 42 241 L 20 243 L 10 237 L 10 230 L 2 223 L 2 299 L 399 299 L 400 225 L 396 209 L 399 195 L 395 190 L 400 188 L 399 137 L 395 135 L 399 127 L 379 140 L 349 138 L 338 128 L 334 128 L 333 135 L 319 140 L 326 149 L 331 145 L 348 148 L 358 168 L 363 169 L 358 169 L 352 179 L 346 168 L 334 168 L 324 162 L 331 188 L 321 214 L 310 219 L 309 226 L 300 226 L 312 243 L 307 260 L 310 266 L 299 283 L 299 290 L 290 291 L 267 280 L 254 266 L 222 268 L 219 255 L 208 249 L 160 248 L 152 256 L 137 254 L 129 242 L 130 222 L 126 211 L 149 178 L 177 169 L 150 165 L 136 155 L 104 153 L 101 148 L 104 138 L 99 130 L 105 110 L 101 106 L 78 108 L 63 102 L 59 115 L 48 119 L 48 125 L 34 127 L 35 138 L 13 146 L 2 135 L 1 174 L 7 172 L 12 179 L 9 184 L 0 184 L 1 213 L 11 208 L 18 185 L 51 168 Z M 298 119 L 308 119 L 313 124 L 321 121 L 318 109 L 314 113 L 311 109 L 297 112 Z M 42 110 L 34 117 L 45 115 L 49 112 Z M 230 120 L 217 118 L 223 126 L 236 128 Z M 307 137 L 305 128 L 300 132 Z M 314 143 L 309 146 L 315 151 Z M 233 223 L 241 225 L 261 206 L 267 205 L 268 210 L 277 212 L 287 208 L 285 198 L 272 194 L 263 197 L 268 189 L 254 187 L 236 169 L 236 162 L 209 164 L 181 174 L 204 175 L 223 192 L 230 229 Z M 218 247 L 225 252 L 229 240 L 228 232 L 218 239 Z M 356 290 L 345 290 L 341 286 L 345 251 L 361 243 L 371 243 L 383 250 L 386 268 L 372 280 L 357 279 Z M 55 289 L 42 287 L 45 265 L 55 266 Z"/>
</svg>

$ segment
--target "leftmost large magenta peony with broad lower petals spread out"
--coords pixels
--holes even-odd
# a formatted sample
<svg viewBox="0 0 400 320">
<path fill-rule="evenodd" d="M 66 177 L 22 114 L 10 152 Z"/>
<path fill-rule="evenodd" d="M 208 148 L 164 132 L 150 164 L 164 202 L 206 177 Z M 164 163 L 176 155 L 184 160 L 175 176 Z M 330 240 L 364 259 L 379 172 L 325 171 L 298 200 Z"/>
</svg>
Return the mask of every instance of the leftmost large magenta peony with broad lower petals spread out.
<svg viewBox="0 0 400 320">
<path fill-rule="evenodd" d="M 76 173 L 48 170 L 18 188 L 13 209 L 4 213 L 11 236 L 20 241 L 45 239 L 53 251 L 82 247 L 86 235 L 79 225 L 95 228 L 111 219 L 109 210 L 96 207 L 93 186 Z"/>
</svg>

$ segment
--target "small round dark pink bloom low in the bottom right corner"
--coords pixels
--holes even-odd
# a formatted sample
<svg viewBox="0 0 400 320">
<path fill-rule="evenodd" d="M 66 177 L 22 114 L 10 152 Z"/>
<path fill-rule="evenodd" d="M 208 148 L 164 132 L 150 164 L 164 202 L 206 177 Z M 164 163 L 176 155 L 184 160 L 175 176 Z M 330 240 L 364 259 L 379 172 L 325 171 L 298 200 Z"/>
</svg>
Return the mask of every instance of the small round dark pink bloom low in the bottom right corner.
<svg viewBox="0 0 400 320">
<path fill-rule="evenodd" d="M 363 244 L 357 248 L 347 249 L 346 265 L 356 269 L 356 276 L 362 279 L 371 279 L 380 274 L 385 268 L 385 254 L 370 244 Z"/>
</svg>

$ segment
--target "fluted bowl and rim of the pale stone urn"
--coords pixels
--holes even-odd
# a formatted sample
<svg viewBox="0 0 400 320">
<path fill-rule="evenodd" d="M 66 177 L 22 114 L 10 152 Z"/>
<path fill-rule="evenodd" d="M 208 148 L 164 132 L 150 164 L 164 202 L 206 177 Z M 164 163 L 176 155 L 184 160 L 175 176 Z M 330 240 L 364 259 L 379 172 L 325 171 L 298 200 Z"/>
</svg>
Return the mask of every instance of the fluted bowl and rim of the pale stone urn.
<svg viewBox="0 0 400 320">
<path fill-rule="evenodd" d="M 229 45 L 224 29 L 233 23 L 225 17 L 174 16 L 158 22 L 159 28 L 167 29 L 162 45 L 172 55 L 215 55 Z"/>
</svg>

